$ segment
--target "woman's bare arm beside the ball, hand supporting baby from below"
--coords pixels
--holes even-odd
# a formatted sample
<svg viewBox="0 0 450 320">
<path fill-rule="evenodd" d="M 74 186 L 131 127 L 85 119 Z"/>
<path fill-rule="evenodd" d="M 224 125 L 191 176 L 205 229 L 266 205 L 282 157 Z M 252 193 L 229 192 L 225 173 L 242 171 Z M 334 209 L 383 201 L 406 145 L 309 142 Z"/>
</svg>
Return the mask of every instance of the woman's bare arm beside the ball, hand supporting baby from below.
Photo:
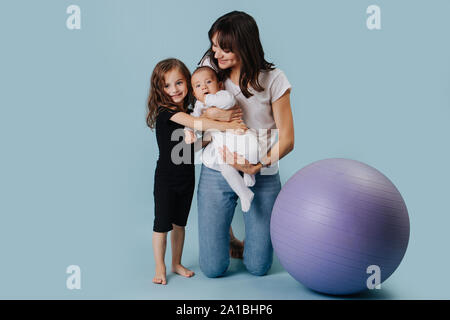
<svg viewBox="0 0 450 320">
<path fill-rule="evenodd" d="M 287 90 L 277 101 L 272 103 L 272 111 L 278 128 L 278 141 L 261 160 L 265 164 L 279 161 L 294 149 L 294 121 L 291 111 L 290 89 Z M 255 174 L 262 168 L 262 164 L 250 164 L 245 158 L 236 152 L 231 153 L 226 147 L 221 152 L 224 161 L 237 170 L 248 174 Z M 219 150 L 220 151 L 220 150 Z"/>
</svg>

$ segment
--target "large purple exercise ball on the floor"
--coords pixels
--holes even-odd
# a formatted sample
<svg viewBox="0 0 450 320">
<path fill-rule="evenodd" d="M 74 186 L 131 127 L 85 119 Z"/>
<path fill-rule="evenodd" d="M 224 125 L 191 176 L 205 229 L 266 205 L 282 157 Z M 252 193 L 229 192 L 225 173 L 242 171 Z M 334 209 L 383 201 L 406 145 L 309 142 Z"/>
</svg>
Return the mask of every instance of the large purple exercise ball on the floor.
<svg viewBox="0 0 450 320">
<path fill-rule="evenodd" d="M 325 159 L 294 174 L 273 207 L 281 265 L 306 287 L 354 294 L 389 278 L 405 255 L 409 217 L 392 182 L 355 160 Z"/>
</svg>

